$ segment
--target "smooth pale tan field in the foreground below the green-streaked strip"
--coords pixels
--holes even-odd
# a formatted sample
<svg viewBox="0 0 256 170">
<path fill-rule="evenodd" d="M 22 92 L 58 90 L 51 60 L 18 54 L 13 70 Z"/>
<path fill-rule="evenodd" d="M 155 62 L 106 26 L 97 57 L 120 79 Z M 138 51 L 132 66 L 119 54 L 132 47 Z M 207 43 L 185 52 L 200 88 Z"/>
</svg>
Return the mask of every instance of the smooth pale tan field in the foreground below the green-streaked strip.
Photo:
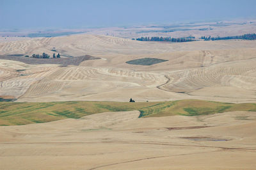
<svg viewBox="0 0 256 170">
<path fill-rule="evenodd" d="M 107 112 L 0 127 L 1 169 L 255 169 L 256 112 Z"/>
</svg>

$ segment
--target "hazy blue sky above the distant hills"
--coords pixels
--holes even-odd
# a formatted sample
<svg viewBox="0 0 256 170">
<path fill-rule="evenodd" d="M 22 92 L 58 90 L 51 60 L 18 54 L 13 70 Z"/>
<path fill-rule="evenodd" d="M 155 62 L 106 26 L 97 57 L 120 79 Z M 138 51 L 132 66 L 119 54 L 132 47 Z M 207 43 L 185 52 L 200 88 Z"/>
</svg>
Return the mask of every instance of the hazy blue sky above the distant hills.
<svg viewBox="0 0 256 170">
<path fill-rule="evenodd" d="M 256 18 L 255 0 L 0 0 L 0 28 L 131 26 Z"/>
</svg>

